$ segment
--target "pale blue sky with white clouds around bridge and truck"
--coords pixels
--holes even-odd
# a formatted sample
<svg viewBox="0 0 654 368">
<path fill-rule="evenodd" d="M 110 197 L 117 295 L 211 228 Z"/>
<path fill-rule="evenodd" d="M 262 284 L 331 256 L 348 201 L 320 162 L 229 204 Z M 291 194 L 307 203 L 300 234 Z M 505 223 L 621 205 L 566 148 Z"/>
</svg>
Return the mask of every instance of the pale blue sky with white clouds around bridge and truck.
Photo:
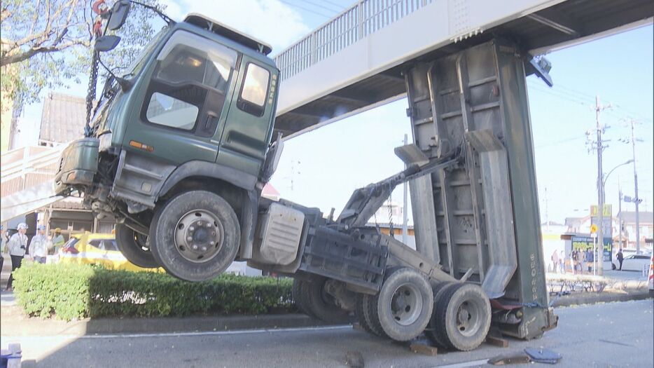
<svg viewBox="0 0 654 368">
<path fill-rule="evenodd" d="M 291 46 L 337 15 L 352 0 L 162 0 L 167 14 L 181 20 L 186 13 L 202 13 L 270 43 L 272 55 Z M 634 119 L 635 158 L 641 211 L 653 210 L 653 27 L 583 43 L 546 55 L 552 62 L 548 88 L 535 76 L 527 78 L 534 134 L 536 177 L 541 222 L 563 223 L 584 216 L 597 203 L 597 155 L 588 151 L 586 132 L 595 136 L 595 96 L 611 107 L 599 119 L 606 128 L 604 172 L 632 159 L 625 120 Z M 64 93 L 84 96 L 86 83 Z M 283 84 L 281 86 L 283 91 Z M 272 184 L 283 198 L 338 213 L 357 187 L 377 182 L 403 169 L 393 149 L 411 141 L 406 100 L 346 118 L 286 142 Z M 35 143 L 41 104 L 25 109 L 20 121 L 22 142 Z M 634 167 L 622 165 L 606 179 L 606 203 L 618 212 L 618 183 L 634 196 Z M 402 200 L 401 188 L 393 193 Z M 622 204 L 634 210 L 633 204 Z"/>
</svg>

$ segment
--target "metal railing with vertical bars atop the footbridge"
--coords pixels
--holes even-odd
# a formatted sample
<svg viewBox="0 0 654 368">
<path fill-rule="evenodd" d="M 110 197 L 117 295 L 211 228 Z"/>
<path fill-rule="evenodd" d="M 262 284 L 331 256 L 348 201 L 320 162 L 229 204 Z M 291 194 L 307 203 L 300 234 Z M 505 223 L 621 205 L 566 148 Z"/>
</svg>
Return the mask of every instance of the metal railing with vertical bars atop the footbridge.
<svg viewBox="0 0 654 368">
<path fill-rule="evenodd" d="M 281 80 L 338 53 L 435 0 L 361 0 L 274 57 Z"/>
</svg>

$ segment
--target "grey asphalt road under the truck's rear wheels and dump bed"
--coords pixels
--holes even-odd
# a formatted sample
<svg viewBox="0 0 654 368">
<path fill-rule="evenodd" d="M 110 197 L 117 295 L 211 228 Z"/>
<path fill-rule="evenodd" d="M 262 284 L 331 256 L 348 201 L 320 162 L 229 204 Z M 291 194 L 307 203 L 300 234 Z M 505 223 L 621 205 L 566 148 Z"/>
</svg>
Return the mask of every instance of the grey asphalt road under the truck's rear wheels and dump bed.
<svg viewBox="0 0 654 368">
<path fill-rule="evenodd" d="M 653 367 L 653 301 L 559 308 L 559 327 L 508 348 L 482 345 L 471 353 L 417 355 L 349 326 L 314 329 L 113 336 L 2 336 L 20 342 L 22 367 L 345 367 L 359 351 L 366 367 L 477 367 L 527 347 L 563 355 L 557 367 Z M 482 360 L 482 362 L 480 362 Z M 524 364 L 522 364 L 524 367 Z M 543 364 L 543 367 L 549 365 Z"/>
</svg>

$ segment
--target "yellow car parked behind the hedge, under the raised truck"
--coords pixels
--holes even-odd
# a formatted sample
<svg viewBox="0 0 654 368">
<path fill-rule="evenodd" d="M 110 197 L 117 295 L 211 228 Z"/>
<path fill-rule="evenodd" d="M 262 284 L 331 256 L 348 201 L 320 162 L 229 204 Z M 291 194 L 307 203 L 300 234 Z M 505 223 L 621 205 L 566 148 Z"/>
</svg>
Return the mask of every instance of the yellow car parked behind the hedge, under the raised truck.
<svg viewBox="0 0 654 368">
<path fill-rule="evenodd" d="M 105 268 L 126 271 L 165 272 L 163 268 L 142 268 L 127 261 L 116 246 L 113 234 L 76 234 L 59 251 L 59 261 L 74 264 L 101 264 Z"/>
</svg>

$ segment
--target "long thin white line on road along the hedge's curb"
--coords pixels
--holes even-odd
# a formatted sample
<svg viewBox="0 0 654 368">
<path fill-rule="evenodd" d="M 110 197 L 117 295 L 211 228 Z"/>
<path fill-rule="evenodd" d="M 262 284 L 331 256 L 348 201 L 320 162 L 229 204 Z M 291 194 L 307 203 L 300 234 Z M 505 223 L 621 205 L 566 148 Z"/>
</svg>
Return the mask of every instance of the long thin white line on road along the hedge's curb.
<svg viewBox="0 0 654 368">
<path fill-rule="evenodd" d="M 326 327 L 291 327 L 284 329 L 237 329 L 234 331 L 205 331 L 205 332 L 163 332 L 155 334 L 98 334 L 98 335 L 56 335 L 56 336 L 2 336 L 3 340 L 11 339 L 121 339 L 121 338 L 141 338 L 141 337 L 183 337 L 183 336 L 225 336 L 225 335 L 242 335 L 242 334 L 260 334 L 262 332 L 319 332 L 331 331 L 337 329 L 352 329 L 351 325 L 326 326 Z"/>
</svg>

